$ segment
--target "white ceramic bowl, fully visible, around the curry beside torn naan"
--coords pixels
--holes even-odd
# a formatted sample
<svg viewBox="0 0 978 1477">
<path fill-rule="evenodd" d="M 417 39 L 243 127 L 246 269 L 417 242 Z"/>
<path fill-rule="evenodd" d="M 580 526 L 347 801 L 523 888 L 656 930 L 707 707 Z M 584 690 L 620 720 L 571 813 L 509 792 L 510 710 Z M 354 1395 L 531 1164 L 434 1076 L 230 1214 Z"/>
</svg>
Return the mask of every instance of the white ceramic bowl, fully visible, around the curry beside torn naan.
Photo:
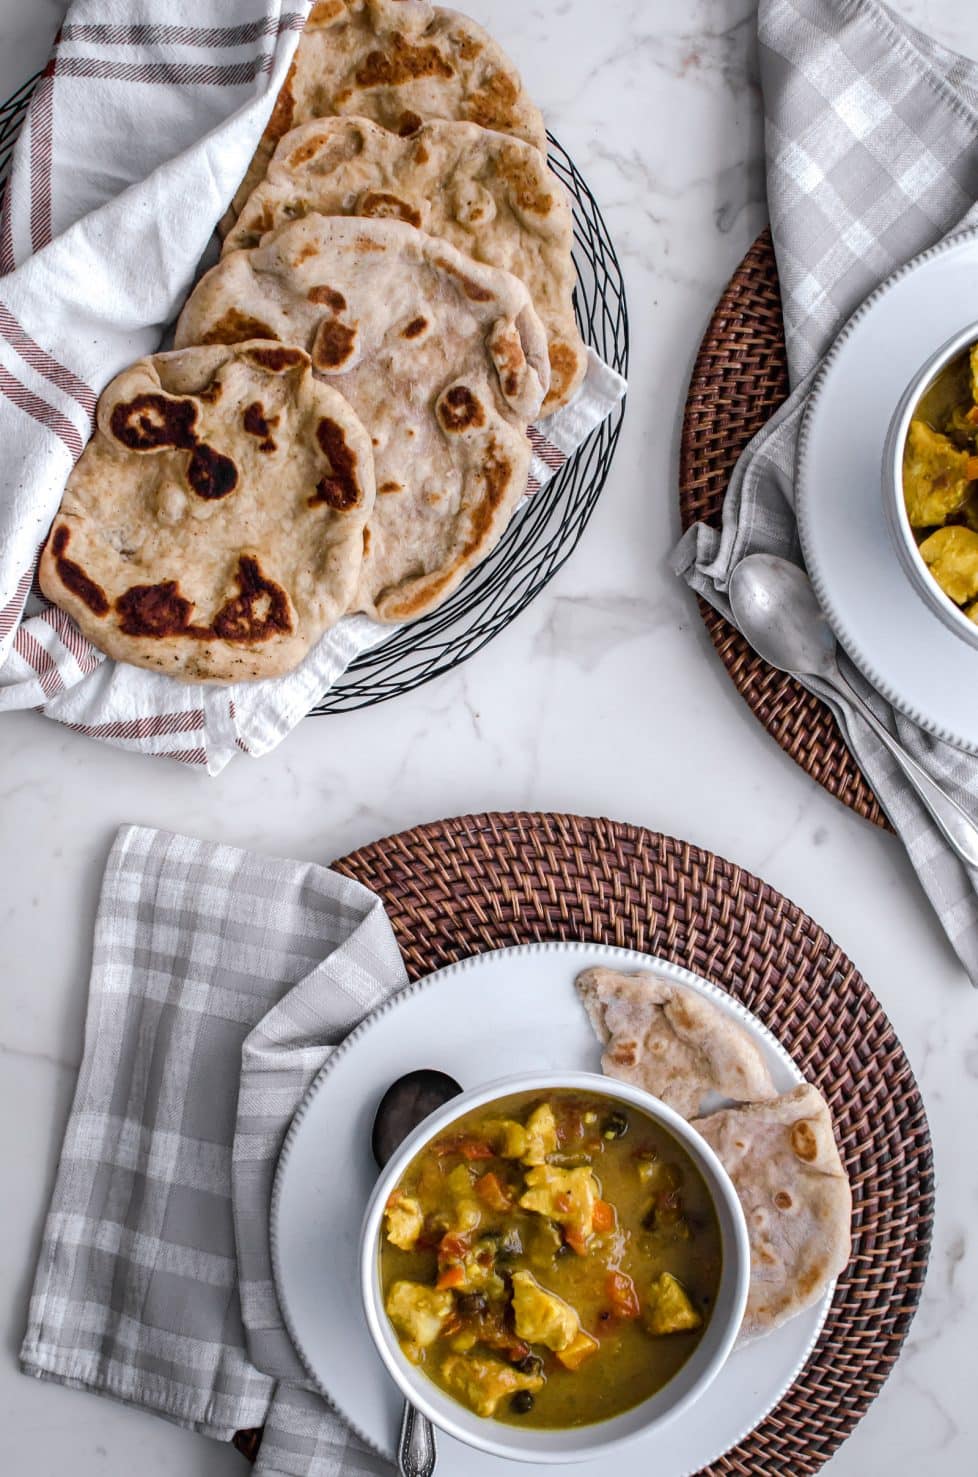
<svg viewBox="0 0 978 1477">
<path fill-rule="evenodd" d="M 519 1430 L 499 1421 L 483 1419 L 467 1411 L 417 1369 L 400 1351 L 397 1337 L 383 1306 L 380 1284 L 380 1236 L 384 1207 L 390 1192 L 424 1145 L 445 1131 L 456 1118 L 513 1093 L 545 1093 L 554 1089 L 587 1092 L 640 1109 L 671 1133 L 687 1151 L 711 1192 L 722 1238 L 722 1272 L 717 1301 L 703 1337 L 683 1368 L 654 1396 L 609 1421 L 566 1431 Z M 671 1108 L 626 1083 L 616 1083 L 592 1072 L 548 1072 L 533 1077 L 507 1077 L 446 1103 L 403 1142 L 390 1159 L 366 1207 L 360 1242 L 360 1289 L 366 1323 L 391 1378 L 428 1419 L 483 1452 L 523 1462 L 575 1462 L 610 1452 L 622 1442 L 647 1434 L 688 1411 L 722 1369 L 743 1320 L 750 1278 L 748 1227 L 730 1176 L 719 1159 Z"/>
</svg>

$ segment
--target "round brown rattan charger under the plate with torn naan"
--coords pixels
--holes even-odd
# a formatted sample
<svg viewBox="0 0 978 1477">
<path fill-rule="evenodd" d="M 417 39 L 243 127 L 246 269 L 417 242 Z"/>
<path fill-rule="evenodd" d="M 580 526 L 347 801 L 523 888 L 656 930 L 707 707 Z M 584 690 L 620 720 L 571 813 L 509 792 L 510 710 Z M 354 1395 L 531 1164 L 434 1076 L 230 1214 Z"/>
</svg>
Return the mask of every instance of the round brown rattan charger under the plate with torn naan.
<svg viewBox="0 0 978 1477">
<path fill-rule="evenodd" d="M 685 964 L 779 1037 L 835 1117 L 852 1183 L 852 1260 L 780 1405 L 700 1477 L 807 1477 L 879 1394 L 923 1286 L 931 1134 L 903 1047 L 813 919 L 711 852 L 575 815 L 468 815 L 334 863 L 384 899 L 411 979 L 511 944 L 594 939 Z M 254 1456 L 259 1431 L 236 1445 Z"/>
</svg>

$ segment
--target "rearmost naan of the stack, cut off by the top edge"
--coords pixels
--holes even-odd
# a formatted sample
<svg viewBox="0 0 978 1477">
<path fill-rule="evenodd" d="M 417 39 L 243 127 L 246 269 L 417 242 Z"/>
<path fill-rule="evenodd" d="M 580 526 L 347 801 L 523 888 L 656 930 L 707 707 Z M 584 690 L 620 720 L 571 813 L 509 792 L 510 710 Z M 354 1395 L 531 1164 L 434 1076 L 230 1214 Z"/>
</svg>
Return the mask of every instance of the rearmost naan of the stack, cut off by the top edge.
<svg viewBox="0 0 978 1477">
<path fill-rule="evenodd" d="M 290 128 L 337 114 L 412 133 L 428 118 L 477 123 L 547 154 L 547 127 L 492 37 L 427 0 L 319 0 L 228 225 Z"/>
</svg>

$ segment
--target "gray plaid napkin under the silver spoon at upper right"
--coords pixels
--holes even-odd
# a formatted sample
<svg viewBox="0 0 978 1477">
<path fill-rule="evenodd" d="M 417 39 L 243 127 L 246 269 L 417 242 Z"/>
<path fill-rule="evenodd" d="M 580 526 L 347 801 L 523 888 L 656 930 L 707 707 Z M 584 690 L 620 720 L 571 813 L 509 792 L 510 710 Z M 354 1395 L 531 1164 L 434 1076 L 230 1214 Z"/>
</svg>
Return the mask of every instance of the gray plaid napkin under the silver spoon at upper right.
<svg viewBox="0 0 978 1477">
<path fill-rule="evenodd" d="M 677 573 L 727 619 L 730 572 L 746 554 L 801 564 L 798 427 L 833 338 L 898 266 L 954 230 L 978 229 L 978 65 L 876 0 L 759 0 L 758 28 L 792 394 L 740 458 L 722 530 L 690 529 L 674 555 Z M 978 759 L 923 733 L 844 663 L 910 753 L 978 820 Z M 807 685 L 829 700 L 818 681 Z M 878 740 L 830 706 L 978 985 L 978 874 L 948 851 Z"/>
</svg>

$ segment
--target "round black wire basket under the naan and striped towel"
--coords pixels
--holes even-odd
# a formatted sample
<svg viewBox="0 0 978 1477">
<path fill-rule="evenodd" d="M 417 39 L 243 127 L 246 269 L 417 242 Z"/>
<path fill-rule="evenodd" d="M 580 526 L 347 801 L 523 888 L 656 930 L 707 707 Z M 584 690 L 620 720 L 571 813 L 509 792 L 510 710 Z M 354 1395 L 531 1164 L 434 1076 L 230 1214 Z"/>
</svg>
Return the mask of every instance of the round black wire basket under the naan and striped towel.
<svg viewBox="0 0 978 1477">
<path fill-rule="evenodd" d="M 0 108 L 0 182 L 9 170 L 37 77 Z M 582 174 L 557 139 L 548 137 L 550 167 L 566 186 L 573 208 L 578 323 L 584 341 L 626 375 L 628 306 L 620 263 Z M 316 703 L 312 716 L 347 713 L 409 693 L 467 662 L 516 620 L 578 546 L 607 482 L 623 417 L 622 402 L 514 515 L 496 548 L 452 598 L 359 656 Z"/>
</svg>

